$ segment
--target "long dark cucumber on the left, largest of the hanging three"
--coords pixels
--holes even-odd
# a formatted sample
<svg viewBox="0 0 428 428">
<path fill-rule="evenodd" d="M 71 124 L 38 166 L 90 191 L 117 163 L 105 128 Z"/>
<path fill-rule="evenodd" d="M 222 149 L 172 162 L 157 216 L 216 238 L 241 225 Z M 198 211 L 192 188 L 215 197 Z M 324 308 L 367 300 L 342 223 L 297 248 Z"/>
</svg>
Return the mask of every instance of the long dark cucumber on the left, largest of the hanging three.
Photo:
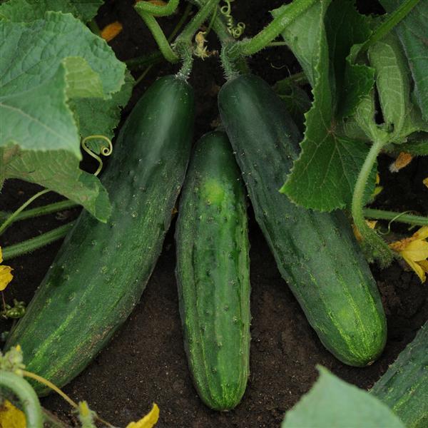
<svg viewBox="0 0 428 428">
<path fill-rule="evenodd" d="M 101 178 L 108 223 L 81 213 L 6 349 L 21 345 L 27 370 L 58 387 L 83 370 L 141 297 L 184 180 L 193 133 L 193 90 L 158 79 L 126 120 Z M 39 395 L 50 390 L 34 383 Z"/>
</svg>

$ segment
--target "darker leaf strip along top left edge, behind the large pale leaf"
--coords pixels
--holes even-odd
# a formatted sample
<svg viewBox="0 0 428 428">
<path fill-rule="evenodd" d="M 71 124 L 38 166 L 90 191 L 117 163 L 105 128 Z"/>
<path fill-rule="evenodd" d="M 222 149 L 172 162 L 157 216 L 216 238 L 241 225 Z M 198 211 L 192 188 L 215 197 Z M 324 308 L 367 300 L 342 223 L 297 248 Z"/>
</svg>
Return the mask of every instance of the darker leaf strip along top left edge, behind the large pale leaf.
<svg viewBox="0 0 428 428">
<path fill-rule="evenodd" d="M 0 18 L 31 22 L 44 18 L 46 11 L 70 13 L 83 22 L 90 21 L 102 0 L 9 0 L 0 5 Z"/>
</svg>

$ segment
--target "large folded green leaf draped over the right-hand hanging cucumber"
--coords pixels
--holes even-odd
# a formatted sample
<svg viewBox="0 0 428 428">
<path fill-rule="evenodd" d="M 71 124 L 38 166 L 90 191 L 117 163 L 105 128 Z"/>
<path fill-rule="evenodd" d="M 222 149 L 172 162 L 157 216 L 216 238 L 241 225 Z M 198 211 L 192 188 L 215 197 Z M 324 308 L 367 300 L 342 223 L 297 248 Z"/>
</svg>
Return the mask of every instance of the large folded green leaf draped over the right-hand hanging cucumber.
<svg viewBox="0 0 428 428">
<path fill-rule="evenodd" d="M 282 33 L 312 84 L 314 101 L 305 115 L 300 157 L 281 190 L 295 203 L 321 211 L 350 205 L 369 146 L 339 135 L 336 115 L 341 104 L 348 112 L 354 110 L 373 84 L 370 68 L 347 71 L 352 46 L 370 34 L 367 19 L 357 13 L 352 1 L 329 3 L 315 3 Z M 350 81 L 353 75 L 358 84 Z M 343 91 L 345 79 L 351 93 Z M 352 103 L 344 94 L 352 95 L 348 98 Z M 366 189 L 367 198 L 373 186 L 374 172 Z"/>
</svg>

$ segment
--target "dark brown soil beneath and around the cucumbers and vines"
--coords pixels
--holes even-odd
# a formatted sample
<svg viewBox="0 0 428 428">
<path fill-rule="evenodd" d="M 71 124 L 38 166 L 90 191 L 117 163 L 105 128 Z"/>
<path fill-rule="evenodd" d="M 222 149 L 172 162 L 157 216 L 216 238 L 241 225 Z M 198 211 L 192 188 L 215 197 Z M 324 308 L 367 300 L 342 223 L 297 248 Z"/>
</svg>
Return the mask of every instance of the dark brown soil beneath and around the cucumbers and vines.
<svg viewBox="0 0 428 428">
<path fill-rule="evenodd" d="M 247 24 L 246 34 L 255 34 L 270 20 L 267 9 L 275 9 L 283 1 L 239 1 L 233 14 Z M 239 8 L 238 8 L 239 4 Z M 250 6 L 251 4 L 251 6 Z M 370 6 L 368 6 L 370 4 Z M 372 1 L 360 2 L 363 12 L 382 11 Z M 163 19 L 166 33 L 179 16 Z M 123 33 L 111 46 L 121 59 L 155 49 L 153 40 L 131 8 L 131 1 L 107 1 L 97 17 L 103 26 L 111 21 L 123 22 Z M 210 37 L 211 41 L 211 37 Z M 215 39 L 212 40 L 213 43 Z M 300 70 L 297 61 L 286 49 L 270 49 L 250 58 L 250 67 L 269 83 Z M 152 68 L 134 93 L 123 117 L 136 99 L 156 78 L 176 70 L 161 64 Z M 223 83 L 218 58 L 196 61 L 190 78 L 195 88 L 197 119 L 195 138 L 209 131 L 218 118 L 216 94 Z M 428 159 L 417 158 L 400 173 L 387 170 L 391 159 L 380 159 L 380 176 L 384 190 L 377 198 L 377 208 L 415 210 L 428 213 L 428 190 L 422 185 L 427 175 Z M 38 188 L 18 180 L 9 180 L 2 191 L 0 209 L 13 210 L 24 203 Z M 34 203 L 43 205 L 56 200 L 45 195 Z M 16 243 L 68 222 L 78 215 L 78 208 L 57 215 L 47 215 L 15 225 L 2 236 L 1 245 Z M 64 387 L 75 400 L 86 399 L 103 419 L 125 427 L 148 412 L 156 402 L 161 409 L 158 427 L 279 427 L 287 409 L 307 392 L 317 379 L 316 365 L 329 370 L 362 388 L 370 388 L 399 352 L 411 341 L 428 319 L 428 287 L 416 275 L 394 262 L 380 270 L 372 265 L 387 313 L 388 341 L 382 357 L 370 367 L 343 365 L 324 347 L 308 325 L 297 301 L 287 288 L 255 223 L 251 209 L 251 374 L 248 388 L 239 406 L 230 412 L 213 412 L 205 407 L 193 388 L 188 372 L 178 314 L 178 298 L 174 277 L 175 246 L 172 225 L 165 238 L 163 252 L 148 282 L 141 302 L 110 345 L 76 379 Z M 393 225 L 394 232 L 405 228 Z M 14 281 L 4 296 L 7 302 L 16 297 L 29 302 L 34 290 L 49 269 L 61 243 L 54 243 L 34 253 L 11 260 Z M 0 331 L 9 330 L 10 322 L 1 321 Z M 41 400 L 64 422 L 73 425 L 76 418 L 61 398 L 52 394 Z"/>
</svg>

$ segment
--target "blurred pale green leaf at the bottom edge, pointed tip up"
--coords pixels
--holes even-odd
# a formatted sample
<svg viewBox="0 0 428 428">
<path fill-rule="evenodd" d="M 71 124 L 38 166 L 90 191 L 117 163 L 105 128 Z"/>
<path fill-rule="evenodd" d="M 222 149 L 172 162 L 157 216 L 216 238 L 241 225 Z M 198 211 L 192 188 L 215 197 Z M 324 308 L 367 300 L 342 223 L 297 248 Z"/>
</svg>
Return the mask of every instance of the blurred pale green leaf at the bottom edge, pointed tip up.
<svg viewBox="0 0 428 428">
<path fill-rule="evenodd" d="M 386 404 L 324 367 L 310 392 L 285 414 L 281 428 L 405 428 Z"/>
</svg>

